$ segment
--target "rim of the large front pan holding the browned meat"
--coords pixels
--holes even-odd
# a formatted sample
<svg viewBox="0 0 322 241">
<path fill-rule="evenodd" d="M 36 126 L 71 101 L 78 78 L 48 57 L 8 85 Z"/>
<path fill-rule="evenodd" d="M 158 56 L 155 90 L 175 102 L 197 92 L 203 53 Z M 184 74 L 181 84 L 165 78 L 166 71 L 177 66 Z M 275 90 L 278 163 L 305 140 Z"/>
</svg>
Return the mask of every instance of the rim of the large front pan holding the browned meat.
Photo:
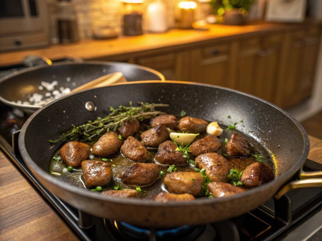
<svg viewBox="0 0 322 241">
<path fill-rule="evenodd" d="M 259 187 L 255 187 L 252 188 L 250 190 L 248 190 L 247 192 L 242 192 L 242 193 L 238 193 L 229 197 L 222 197 L 222 198 L 213 198 L 213 199 L 209 199 L 209 198 L 198 198 L 195 199 L 194 201 L 191 202 L 187 202 L 187 201 L 177 201 L 177 202 L 167 202 L 167 203 L 161 203 L 161 202 L 156 202 L 154 200 L 142 200 L 142 199 L 122 199 L 122 198 L 117 198 L 117 197 L 110 197 L 110 196 L 106 196 L 106 195 L 101 195 L 100 193 L 96 193 L 96 192 L 89 192 L 86 189 L 82 189 L 82 188 L 78 188 L 75 186 L 71 186 L 71 185 L 66 185 L 65 182 L 60 181 L 59 179 L 51 176 L 49 173 L 47 173 L 46 171 L 44 171 L 41 167 L 39 167 L 33 160 L 32 158 L 29 156 L 25 143 L 24 143 L 24 137 L 25 137 L 25 132 L 26 129 L 29 125 L 29 123 L 33 120 L 33 118 L 35 117 L 35 115 L 37 115 L 39 112 L 41 112 L 44 108 L 46 108 L 47 106 L 56 103 L 57 101 L 60 101 L 64 98 L 68 98 L 69 96 L 65 96 L 62 97 L 61 99 L 55 100 L 51 103 L 49 103 L 48 105 L 42 107 L 41 109 L 37 110 L 35 113 L 33 113 L 33 115 L 25 122 L 24 126 L 21 129 L 20 135 L 19 135 L 19 140 L 18 140 L 18 145 L 19 145 L 19 151 L 21 153 L 21 156 L 23 157 L 24 161 L 26 162 L 26 165 L 28 166 L 28 168 L 30 168 L 30 170 L 39 174 L 43 179 L 45 179 L 47 182 L 58 186 L 59 188 L 62 188 L 66 191 L 69 192 L 73 192 L 77 195 L 81 195 L 81 196 L 86 196 L 87 198 L 94 198 L 94 199 L 98 199 L 99 201 L 108 201 L 108 202 L 113 202 L 113 203 L 120 203 L 120 204 L 128 204 L 128 205 L 136 205 L 136 206 L 154 206 L 154 207 L 176 207 L 176 206 L 199 206 L 199 205 L 211 205 L 211 204 L 218 204 L 221 202 L 226 202 L 229 200 L 234 200 L 234 199 L 242 199 L 243 197 L 246 196 L 250 196 L 255 194 L 256 192 L 260 192 L 263 190 L 268 190 L 270 188 L 273 188 L 275 185 L 278 185 L 278 190 L 301 168 L 301 166 L 304 164 L 307 156 L 308 156 L 308 152 L 309 152 L 309 139 L 308 139 L 308 135 L 305 131 L 305 129 L 303 128 L 303 126 L 293 117 L 291 116 L 288 112 L 286 112 L 285 110 L 281 109 L 280 107 L 278 107 L 277 105 L 270 103 L 266 100 L 263 100 L 259 97 L 253 96 L 251 94 L 247 94 L 247 93 L 243 93 L 237 90 L 233 90 L 230 88 L 226 88 L 226 87 L 221 87 L 221 86 L 216 86 L 216 85 L 208 85 L 208 84 L 202 84 L 202 83 L 195 83 L 195 82 L 186 82 L 186 81 L 160 81 L 160 80 L 146 80 L 146 81 L 133 81 L 133 82 L 126 82 L 126 83 L 118 83 L 115 85 L 135 85 L 135 84 L 150 84 L 150 83 L 164 83 L 164 84 L 186 84 L 186 85 L 199 85 L 199 86 L 206 86 L 206 87 L 211 87 L 211 88 L 218 88 L 218 89 L 223 89 L 223 90 L 228 90 L 234 93 L 238 93 L 238 94 L 242 94 L 251 98 L 254 98 L 256 100 L 262 101 L 266 104 L 269 104 L 270 106 L 272 106 L 273 108 L 279 110 L 280 112 L 282 112 L 284 115 L 286 115 L 291 121 L 294 122 L 294 124 L 300 129 L 301 134 L 302 134 L 302 138 L 304 139 L 304 148 L 302 150 L 302 154 L 299 157 L 299 160 L 297 162 L 296 165 L 294 165 L 292 168 L 290 168 L 287 172 L 285 172 L 285 174 L 283 175 L 279 175 L 278 177 L 275 177 L 275 179 L 269 183 L 265 183 L 264 185 L 261 185 Z M 111 86 L 115 86 L 115 85 L 111 85 Z M 110 86 L 107 87 L 102 87 L 102 88 L 109 88 Z M 85 91 L 90 91 L 90 90 L 85 90 Z M 82 91 L 82 92 L 85 92 Z M 79 93 L 75 93 L 75 94 L 80 94 L 82 92 Z M 71 96 L 71 95 L 70 95 Z M 277 184 L 278 183 L 278 184 Z"/>
</svg>

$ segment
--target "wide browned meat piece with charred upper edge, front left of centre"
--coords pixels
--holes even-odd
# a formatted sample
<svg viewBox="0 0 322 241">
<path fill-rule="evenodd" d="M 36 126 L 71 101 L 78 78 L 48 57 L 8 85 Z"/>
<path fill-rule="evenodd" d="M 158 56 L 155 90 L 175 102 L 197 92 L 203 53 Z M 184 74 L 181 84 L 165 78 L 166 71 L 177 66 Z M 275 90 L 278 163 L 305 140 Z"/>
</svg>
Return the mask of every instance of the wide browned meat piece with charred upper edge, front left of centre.
<svg viewBox="0 0 322 241">
<path fill-rule="evenodd" d="M 154 163 L 134 163 L 125 168 L 120 179 L 128 185 L 144 186 L 153 183 L 159 175 L 159 167 Z"/>
</svg>

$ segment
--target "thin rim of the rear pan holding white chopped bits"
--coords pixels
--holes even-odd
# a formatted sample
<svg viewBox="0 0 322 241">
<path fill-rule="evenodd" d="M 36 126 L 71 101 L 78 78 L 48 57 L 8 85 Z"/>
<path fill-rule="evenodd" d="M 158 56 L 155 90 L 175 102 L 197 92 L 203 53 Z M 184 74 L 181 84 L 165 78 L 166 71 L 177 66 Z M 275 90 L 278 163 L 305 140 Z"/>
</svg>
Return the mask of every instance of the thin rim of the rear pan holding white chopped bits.
<svg viewBox="0 0 322 241">
<path fill-rule="evenodd" d="M 130 65 L 133 67 L 137 67 L 143 70 L 147 70 L 153 74 L 155 74 L 156 76 L 158 76 L 160 78 L 159 81 L 165 81 L 166 78 L 164 75 L 162 75 L 159 71 L 156 71 L 155 69 L 149 68 L 149 67 L 145 67 L 145 66 L 141 66 L 141 65 L 137 65 L 137 64 L 131 64 L 131 63 L 120 63 L 120 62 L 113 62 L 113 61 L 91 61 L 91 60 L 84 60 L 84 61 L 66 61 L 66 62 L 62 62 L 62 63 L 54 63 L 52 65 L 38 65 L 38 66 L 34 66 L 34 67 L 29 67 L 29 68 L 25 68 L 25 69 L 21 69 L 18 70 L 17 72 L 11 73 L 9 75 L 6 75 L 2 78 L 0 78 L 0 85 L 2 84 L 2 82 L 5 82 L 6 80 L 13 78 L 15 76 L 18 76 L 20 74 L 23 73 L 28 73 L 37 69 L 42 69 L 42 68 L 49 68 L 52 66 L 60 66 L 60 65 L 76 65 L 76 64 L 96 64 L 96 65 L 108 65 L 108 64 L 119 64 L 119 65 Z M 133 82 L 133 81 L 132 81 Z M 42 108 L 43 106 L 39 106 L 39 105 L 29 105 L 29 104 L 18 104 L 18 103 L 13 103 L 7 99 L 5 99 L 4 97 L 2 97 L 0 95 L 0 101 L 5 103 L 6 105 L 9 105 L 11 107 L 14 108 L 18 108 L 18 109 L 27 109 L 27 110 L 39 110 L 40 108 Z M 52 102 L 50 102 L 52 103 Z"/>
</svg>

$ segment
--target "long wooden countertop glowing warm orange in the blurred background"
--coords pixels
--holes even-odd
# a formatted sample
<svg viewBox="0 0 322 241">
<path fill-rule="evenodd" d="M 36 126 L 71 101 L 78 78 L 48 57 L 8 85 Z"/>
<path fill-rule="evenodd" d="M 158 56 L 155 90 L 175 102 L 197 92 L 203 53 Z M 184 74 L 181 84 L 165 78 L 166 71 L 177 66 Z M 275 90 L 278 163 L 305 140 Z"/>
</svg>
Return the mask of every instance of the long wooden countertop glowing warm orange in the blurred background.
<svg viewBox="0 0 322 241">
<path fill-rule="evenodd" d="M 243 26 L 209 25 L 209 31 L 172 29 L 161 34 L 144 34 L 140 36 L 123 36 L 111 40 L 82 40 L 68 45 L 52 45 L 43 49 L 20 50 L 0 53 L 0 66 L 21 63 L 27 55 L 40 55 L 55 60 L 72 57 L 81 59 L 103 59 L 106 57 L 129 58 L 129 54 L 144 51 L 193 46 L 195 43 L 239 35 L 258 35 L 260 32 L 283 31 L 301 24 L 320 24 L 319 20 L 307 20 L 306 23 L 286 24 L 255 22 Z"/>
</svg>

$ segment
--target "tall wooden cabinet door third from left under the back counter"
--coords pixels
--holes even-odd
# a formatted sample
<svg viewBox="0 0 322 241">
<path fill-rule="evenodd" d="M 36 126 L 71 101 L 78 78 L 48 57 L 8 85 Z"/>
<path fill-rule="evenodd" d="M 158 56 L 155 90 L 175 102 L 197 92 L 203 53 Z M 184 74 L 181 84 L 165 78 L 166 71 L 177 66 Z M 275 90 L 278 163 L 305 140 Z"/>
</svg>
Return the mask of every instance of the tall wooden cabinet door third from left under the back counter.
<svg viewBox="0 0 322 241">
<path fill-rule="evenodd" d="M 242 40 L 236 63 L 236 85 L 241 90 L 274 101 L 283 36 Z"/>
</svg>

